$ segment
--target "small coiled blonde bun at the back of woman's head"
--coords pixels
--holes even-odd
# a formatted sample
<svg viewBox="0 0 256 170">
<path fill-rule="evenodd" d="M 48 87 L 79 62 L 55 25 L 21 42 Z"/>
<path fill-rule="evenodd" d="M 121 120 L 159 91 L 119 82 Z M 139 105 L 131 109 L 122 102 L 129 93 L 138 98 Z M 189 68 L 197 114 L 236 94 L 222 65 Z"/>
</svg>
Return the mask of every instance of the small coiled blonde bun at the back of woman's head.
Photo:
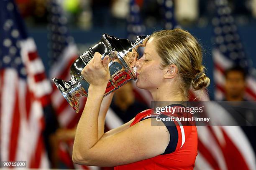
<svg viewBox="0 0 256 170">
<path fill-rule="evenodd" d="M 199 72 L 195 75 L 192 80 L 192 87 L 195 90 L 200 90 L 203 87 L 208 87 L 210 85 L 210 78 L 205 75 L 205 72 Z"/>
</svg>

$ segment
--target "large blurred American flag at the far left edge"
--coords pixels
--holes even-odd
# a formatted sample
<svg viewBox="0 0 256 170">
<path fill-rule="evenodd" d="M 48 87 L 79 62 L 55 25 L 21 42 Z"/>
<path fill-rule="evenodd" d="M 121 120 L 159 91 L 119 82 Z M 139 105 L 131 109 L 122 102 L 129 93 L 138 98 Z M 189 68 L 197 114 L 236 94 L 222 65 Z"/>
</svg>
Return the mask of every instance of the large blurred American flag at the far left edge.
<svg viewBox="0 0 256 170">
<path fill-rule="evenodd" d="M 49 168 L 43 108 L 51 85 L 13 0 L 0 1 L 0 157 Z"/>
</svg>

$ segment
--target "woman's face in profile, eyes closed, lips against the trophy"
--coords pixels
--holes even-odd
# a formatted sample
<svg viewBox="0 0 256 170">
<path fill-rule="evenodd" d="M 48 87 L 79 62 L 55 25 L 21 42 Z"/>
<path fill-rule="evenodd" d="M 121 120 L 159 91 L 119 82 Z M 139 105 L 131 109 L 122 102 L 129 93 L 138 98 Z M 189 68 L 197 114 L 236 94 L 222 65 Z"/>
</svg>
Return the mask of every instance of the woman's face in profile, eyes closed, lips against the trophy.
<svg viewBox="0 0 256 170">
<path fill-rule="evenodd" d="M 164 80 L 164 70 L 161 69 L 161 58 L 156 52 L 154 37 L 151 37 L 144 48 L 143 56 L 136 62 L 137 82 L 139 88 L 154 90 Z"/>
</svg>

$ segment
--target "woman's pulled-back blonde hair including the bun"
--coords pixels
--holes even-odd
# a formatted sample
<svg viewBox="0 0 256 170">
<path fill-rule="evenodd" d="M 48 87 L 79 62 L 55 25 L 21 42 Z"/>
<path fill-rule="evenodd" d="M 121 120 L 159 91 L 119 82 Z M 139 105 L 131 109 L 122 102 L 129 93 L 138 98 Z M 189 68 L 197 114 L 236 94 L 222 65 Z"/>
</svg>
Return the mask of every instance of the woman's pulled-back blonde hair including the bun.
<svg viewBox="0 0 256 170">
<path fill-rule="evenodd" d="M 202 48 L 189 32 L 182 29 L 154 32 L 157 53 L 162 59 L 162 67 L 174 64 L 180 77 L 179 90 L 188 97 L 189 87 L 200 90 L 208 87 L 210 79 L 202 65 Z"/>
</svg>

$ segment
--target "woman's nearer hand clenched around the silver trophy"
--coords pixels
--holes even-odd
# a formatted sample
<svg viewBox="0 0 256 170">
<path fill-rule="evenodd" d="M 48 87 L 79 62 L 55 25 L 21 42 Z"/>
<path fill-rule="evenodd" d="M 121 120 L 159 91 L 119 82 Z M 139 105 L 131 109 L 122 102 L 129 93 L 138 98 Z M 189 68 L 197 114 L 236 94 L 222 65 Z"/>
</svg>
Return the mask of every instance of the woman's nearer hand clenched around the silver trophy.
<svg viewBox="0 0 256 170">
<path fill-rule="evenodd" d="M 101 60 L 101 54 L 95 52 L 92 60 L 84 67 L 82 70 L 82 75 L 84 79 L 90 83 L 90 86 L 106 86 L 110 79 L 109 72 L 109 56 L 105 56 Z"/>
</svg>

